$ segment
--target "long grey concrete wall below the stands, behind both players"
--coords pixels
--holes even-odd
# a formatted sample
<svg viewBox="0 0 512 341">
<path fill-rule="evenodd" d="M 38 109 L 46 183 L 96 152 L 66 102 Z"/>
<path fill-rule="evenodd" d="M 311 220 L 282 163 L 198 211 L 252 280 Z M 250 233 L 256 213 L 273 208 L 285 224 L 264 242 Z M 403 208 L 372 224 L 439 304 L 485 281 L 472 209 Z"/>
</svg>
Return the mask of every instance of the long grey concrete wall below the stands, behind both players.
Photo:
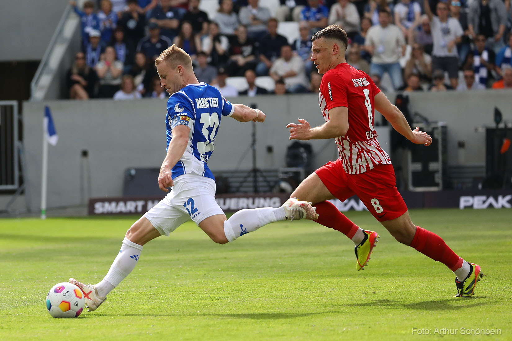
<svg viewBox="0 0 512 341">
<path fill-rule="evenodd" d="M 503 111 L 503 119 L 512 122 L 510 92 L 487 90 L 472 93 L 412 94 L 412 109 L 432 120 L 446 122 L 449 131 L 449 163 L 457 164 L 457 141 L 466 141 L 465 164 L 484 164 L 484 133 L 475 127 L 493 125 L 493 109 Z M 394 95 L 390 95 L 394 99 Z M 312 126 L 322 124 L 317 96 L 239 97 L 235 103 L 258 104 L 267 120 L 257 124 L 258 167 L 285 166 L 286 147 L 290 145 L 286 124 L 304 118 Z M 27 157 L 27 183 L 32 207 L 39 207 L 42 117 L 49 105 L 59 142 L 49 146 L 48 207 L 81 203 L 80 151 L 89 151 L 91 196 L 120 196 L 123 172 L 127 167 L 159 167 L 165 157 L 165 100 L 137 101 L 48 101 L 25 102 L 23 105 L 24 143 Z M 212 171 L 251 168 L 248 149 L 251 123 L 224 119 L 209 161 Z M 314 167 L 337 157 L 333 141 L 310 141 Z M 273 146 L 273 155 L 266 151 Z M 244 156 L 244 151 L 246 154 Z M 156 184 L 156 179 L 155 179 Z"/>
</svg>

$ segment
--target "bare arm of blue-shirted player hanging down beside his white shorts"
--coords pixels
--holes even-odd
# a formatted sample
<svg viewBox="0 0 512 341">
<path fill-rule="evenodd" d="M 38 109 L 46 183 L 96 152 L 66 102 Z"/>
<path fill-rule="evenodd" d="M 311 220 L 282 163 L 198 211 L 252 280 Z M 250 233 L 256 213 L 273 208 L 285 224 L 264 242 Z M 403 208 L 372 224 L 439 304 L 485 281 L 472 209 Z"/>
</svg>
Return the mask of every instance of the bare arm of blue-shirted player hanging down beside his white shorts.
<svg viewBox="0 0 512 341">
<path fill-rule="evenodd" d="M 173 128 L 173 139 L 170 140 L 162 167 L 160 167 L 160 174 L 158 175 L 158 187 L 164 192 L 168 192 L 167 187 L 174 186 L 174 181 L 171 176 L 171 170 L 183 156 L 185 148 L 188 145 L 188 134 L 190 128 L 186 125 L 179 124 Z"/>
</svg>

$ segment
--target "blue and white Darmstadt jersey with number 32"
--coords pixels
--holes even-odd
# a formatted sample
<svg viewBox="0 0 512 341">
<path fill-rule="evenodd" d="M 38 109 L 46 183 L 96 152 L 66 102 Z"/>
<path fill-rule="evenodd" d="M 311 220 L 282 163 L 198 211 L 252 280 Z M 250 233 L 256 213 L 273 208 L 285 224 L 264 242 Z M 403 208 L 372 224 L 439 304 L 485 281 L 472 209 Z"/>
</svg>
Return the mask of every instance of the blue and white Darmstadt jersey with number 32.
<svg viewBox="0 0 512 341">
<path fill-rule="evenodd" d="M 234 106 L 220 91 L 208 84 L 188 84 L 167 101 L 167 149 L 173 138 L 172 130 L 179 124 L 190 128 L 189 142 L 172 177 L 195 173 L 215 179 L 207 162 L 214 151 L 214 142 L 222 116 L 233 115 Z"/>
</svg>

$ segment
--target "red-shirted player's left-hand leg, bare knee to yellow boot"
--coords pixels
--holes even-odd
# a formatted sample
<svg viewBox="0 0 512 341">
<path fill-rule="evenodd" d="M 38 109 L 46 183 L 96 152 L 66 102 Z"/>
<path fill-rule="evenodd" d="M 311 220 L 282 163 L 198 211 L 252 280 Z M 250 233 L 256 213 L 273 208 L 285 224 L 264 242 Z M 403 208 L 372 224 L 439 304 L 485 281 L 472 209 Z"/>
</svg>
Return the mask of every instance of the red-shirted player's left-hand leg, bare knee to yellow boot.
<svg viewBox="0 0 512 341">
<path fill-rule="evenodd" d="M 355 245 L 356 269 L 364 269 L 370 260 L 373 248 L 378 242 L 378 234 L 374 231 L 362 230 L 343 213 L 339 212 L 331 202 L 327 201 L 335 197 L 315 172 L 304 179 L 291 196 L 313 202 L 313 206 L 318 213 L 318 219 L 315 220 L 317 223 L 349 237 Z"/>
</svg>

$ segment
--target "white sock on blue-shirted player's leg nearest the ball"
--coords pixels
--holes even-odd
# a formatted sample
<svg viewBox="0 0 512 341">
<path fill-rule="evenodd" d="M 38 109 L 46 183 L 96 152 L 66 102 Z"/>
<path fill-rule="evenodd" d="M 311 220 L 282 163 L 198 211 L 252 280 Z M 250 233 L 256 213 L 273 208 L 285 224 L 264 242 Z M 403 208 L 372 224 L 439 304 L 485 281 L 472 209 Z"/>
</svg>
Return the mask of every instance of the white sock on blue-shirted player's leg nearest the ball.
<svg viewBox="0 0 512 341">
<path fill-rule="evenodd" d="M 124 237 L 121 250 L 117 254 L 114 263 L 112 263 L 109 272 L 107 272 L 101 282 L 96 284 L 98 295 L 106 296 L 112 289 L 118 286 L 126 276 L 130 275 L 130 272 L 132 272 L 135 265 L 137 265 L 141 253 L 142 245 L 136 244 Z"/>
</svg>

